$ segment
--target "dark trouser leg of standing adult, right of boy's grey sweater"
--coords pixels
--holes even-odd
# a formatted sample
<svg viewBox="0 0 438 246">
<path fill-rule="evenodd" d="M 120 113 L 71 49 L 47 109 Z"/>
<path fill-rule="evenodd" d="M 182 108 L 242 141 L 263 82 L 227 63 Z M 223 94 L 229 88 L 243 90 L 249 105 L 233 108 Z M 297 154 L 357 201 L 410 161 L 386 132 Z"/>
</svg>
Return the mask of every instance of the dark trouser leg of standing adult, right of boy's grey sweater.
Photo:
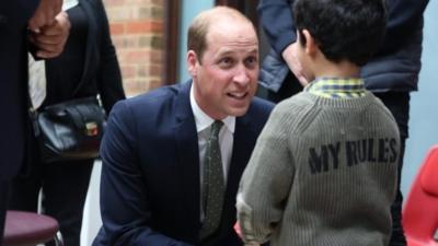
<svg viewBox="0 0 438 246">
<path fill-rule="evenodd" d="M 408 138 L 408 119 L 410 119 L 410 93 L 408 92 L 389 92 L 389 93 L 374 93 L 390 109 L 394 116 L 401 139 L 401 150 L 399 159 L 399 181 L 397 181 L 397 192 L 393 204 L 391 206 L 392 214 L 392 235 L 390 246 L 406 246 L 406 238 L 404 236 L 403 225 L 402 225 L 402 206 L 403 206 L 403 195 L 400 189 L 402 168 L 403 168 L 403 157 L 405 150 L 405 142 Z"/>
</svg>

